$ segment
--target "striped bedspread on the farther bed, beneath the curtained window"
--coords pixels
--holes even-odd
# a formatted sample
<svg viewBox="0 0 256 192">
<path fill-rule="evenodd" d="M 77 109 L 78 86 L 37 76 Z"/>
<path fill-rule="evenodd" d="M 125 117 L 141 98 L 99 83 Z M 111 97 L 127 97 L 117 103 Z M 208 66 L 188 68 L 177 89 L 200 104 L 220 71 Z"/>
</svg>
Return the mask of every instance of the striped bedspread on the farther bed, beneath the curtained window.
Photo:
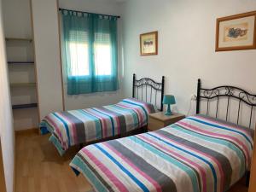
<svg viewBox="0 0 256 192">
<path fill-rule="evenodd" d="M 152 104 L 128 98 L 102 108 L 49 113 L 39 127 L 42 134 L 51 133 L 49 141 L 62 155 L 70 146 L 142 128 L 148 124 L 148 113 L 154 112 Z"/>
</svg>

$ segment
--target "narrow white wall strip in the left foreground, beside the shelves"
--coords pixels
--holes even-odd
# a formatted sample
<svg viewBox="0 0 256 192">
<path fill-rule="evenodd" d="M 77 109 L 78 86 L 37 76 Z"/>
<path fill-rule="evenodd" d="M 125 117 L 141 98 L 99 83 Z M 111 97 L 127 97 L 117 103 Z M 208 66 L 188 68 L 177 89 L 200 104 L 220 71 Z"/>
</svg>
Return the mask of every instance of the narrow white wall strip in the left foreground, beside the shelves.
<svg viewBox="0 0 256 192">
<path fill-rule="evenodd" d="M 2 10 L 2 1 L 0 1 L 0 139 L 2 143 L 6 188 L 7 192 L 13 192 L 15 138 L 9 99 L 9 79 L 4 48 Z"/>
</svg>

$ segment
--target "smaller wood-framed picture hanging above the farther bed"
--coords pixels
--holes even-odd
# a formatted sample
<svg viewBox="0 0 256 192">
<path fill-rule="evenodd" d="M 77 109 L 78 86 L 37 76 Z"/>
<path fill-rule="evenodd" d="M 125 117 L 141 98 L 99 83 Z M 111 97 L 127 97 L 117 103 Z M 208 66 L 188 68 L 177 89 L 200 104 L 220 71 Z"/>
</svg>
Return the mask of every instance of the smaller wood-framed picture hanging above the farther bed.
<svg viewBox="0 0 256 192">
<path fill-rule="evenodd" d="M 141 55 L 158 54 L 158 32 L 148 32 L 140 35 Z"/>
</svg>

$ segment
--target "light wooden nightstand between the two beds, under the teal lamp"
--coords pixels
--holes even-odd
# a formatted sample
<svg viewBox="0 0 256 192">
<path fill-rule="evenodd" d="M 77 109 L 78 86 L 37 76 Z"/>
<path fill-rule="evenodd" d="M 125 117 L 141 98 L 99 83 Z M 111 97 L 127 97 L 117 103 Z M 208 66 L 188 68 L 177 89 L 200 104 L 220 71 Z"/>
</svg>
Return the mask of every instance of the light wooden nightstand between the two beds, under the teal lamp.
<svg viewBox="0 0 256 192">
<path fill-rule="evenodd" d="M 181 113 L 173 113 L 169 116 L 165 115 L 165 112 L 150 113 L 148 114 L 148 131 L 159 130 L 184 118 L 185 115 Z"/>
</svg>

